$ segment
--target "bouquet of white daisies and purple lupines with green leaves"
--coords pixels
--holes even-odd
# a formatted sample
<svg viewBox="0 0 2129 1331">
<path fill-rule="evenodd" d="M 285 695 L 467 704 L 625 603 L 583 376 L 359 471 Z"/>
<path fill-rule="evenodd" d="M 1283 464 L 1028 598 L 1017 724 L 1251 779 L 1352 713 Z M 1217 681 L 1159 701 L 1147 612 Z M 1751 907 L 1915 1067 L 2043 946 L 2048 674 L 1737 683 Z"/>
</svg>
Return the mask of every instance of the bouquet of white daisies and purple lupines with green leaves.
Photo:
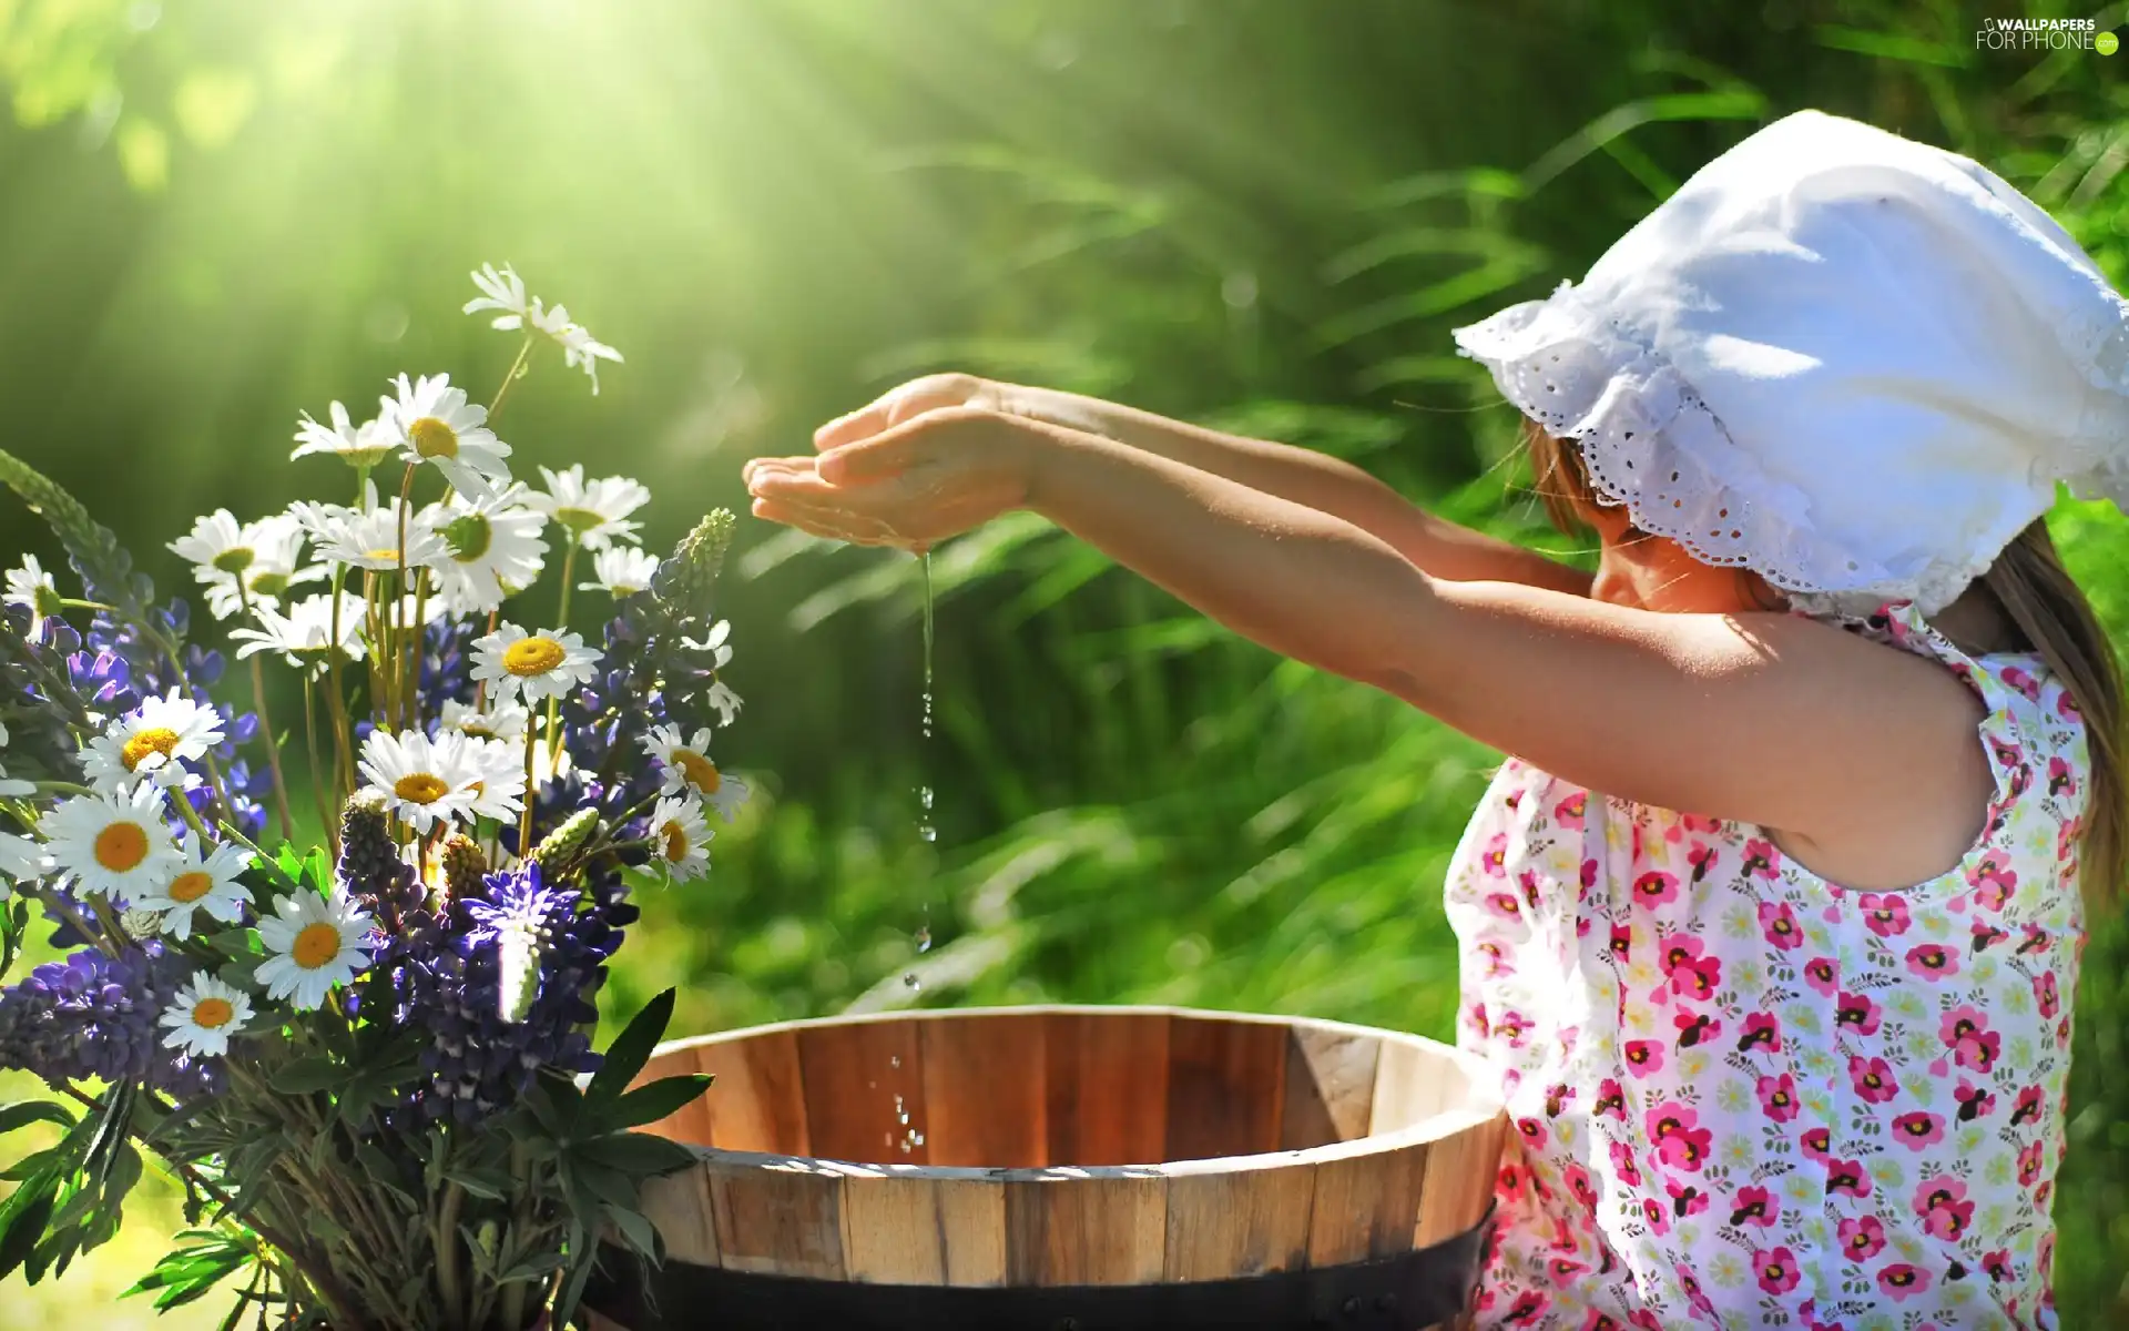
<svg viewBox="0 0 2129 1331">
<path fill-rule="evenodd" d="M 109 1239 L 145 1156 L 192 1227 L 136 1291 L 221 1286 L 228 1327 L 560 1327 L 603 1235 L 658 1256 L 637 1184 L 686 1156 L 628 1129 L 707 1080 L 628 1090 L 671 992 L 605 1056 L 592 999 L 630 890 L 703 875 L 745 799 L 709 756 L 739 709 L 711 613 L 732 515 L 658 560 L 643 486 L 513 479 L 496 417 L 534 354 L 594 392 L 620 356 L 509 268 L 475 283 L 466 313 L 522 339 L 485 407 L 402 375 L 377 420 L 304 415 L 294 458 L 347 464 L 351 505 L 170 545 L 232 624 L 238 705 L 185 603 L 0 454 L 81 584 L 26 560 L 0 626 L 0 973 L 32 903 L 62 952 L 0 990 L 0 1067 L 53 1090 L 0 1133 L 57 1137 L 0 1171 L 0 1278 Z M 573 592 L 607 607 L 590 635 Z M 279 728 L 268 662 L 302 686 Z"/>
</svg>

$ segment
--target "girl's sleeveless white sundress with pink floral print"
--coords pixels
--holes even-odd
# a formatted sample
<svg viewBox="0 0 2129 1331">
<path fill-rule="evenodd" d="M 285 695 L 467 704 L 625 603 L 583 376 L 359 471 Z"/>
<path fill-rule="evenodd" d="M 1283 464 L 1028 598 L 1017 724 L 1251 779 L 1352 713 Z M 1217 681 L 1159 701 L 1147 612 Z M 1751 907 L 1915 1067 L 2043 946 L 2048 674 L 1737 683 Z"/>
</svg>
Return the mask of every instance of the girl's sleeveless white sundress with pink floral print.
<svg viewBox="0 0 2129 1331">
<path fill-rule="evenodd" d="M 1969 658 L 1912 603 L 1839 624 L 1988 707 L 1950 873 L 1844 890 L 1518 760 L 1471 820 L 1458 1044 L 1518 1129 L 1480 1327 L 2057 1327 L 2084 726 L 2037 654 Z"/>
</svg>

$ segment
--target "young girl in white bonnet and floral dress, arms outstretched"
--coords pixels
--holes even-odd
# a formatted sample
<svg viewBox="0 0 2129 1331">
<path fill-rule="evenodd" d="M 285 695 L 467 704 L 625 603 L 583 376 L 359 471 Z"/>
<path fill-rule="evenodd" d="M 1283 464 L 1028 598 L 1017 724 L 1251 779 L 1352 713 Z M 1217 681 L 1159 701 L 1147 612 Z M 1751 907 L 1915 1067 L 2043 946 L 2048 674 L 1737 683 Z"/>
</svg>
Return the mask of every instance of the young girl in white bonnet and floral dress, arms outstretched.
<svg viewBox="0 0 2129 1331">
<path fill-rule="evenodd" d="M 1328 458 L 969 377 L 747 483 L 903 547 L 1033 509 L 1509 754 L 1448 880 L 1518 1127 L 1482 1325 L 2054 1327 L 2125 790 L 2042 513 L 2129 503 L 2129 307 L 1974 162 L 1801 113 L 1456 341 L 1595 577 Z"/>
</svg>

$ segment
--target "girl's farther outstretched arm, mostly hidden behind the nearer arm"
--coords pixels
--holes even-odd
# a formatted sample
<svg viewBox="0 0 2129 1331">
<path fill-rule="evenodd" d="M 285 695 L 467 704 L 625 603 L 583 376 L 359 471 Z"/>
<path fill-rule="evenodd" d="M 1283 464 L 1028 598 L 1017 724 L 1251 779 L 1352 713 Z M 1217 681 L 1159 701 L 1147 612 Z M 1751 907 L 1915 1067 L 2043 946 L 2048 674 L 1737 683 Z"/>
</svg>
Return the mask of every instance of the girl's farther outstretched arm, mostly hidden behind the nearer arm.
<svg viewBox="0 0 2129 1331">
<path fill-rule="evenodd" d="M 1582 569 L 1435 517 L 1341 458 L 1288 443 L 1222 434 L 1152 411 L 1052 388 L 999 383 L 975 375 L 928 375 L 822 426 L 813 434 L 813 447 L 826 451 L 858 443 L 943 407 L 979 407 L 1001 415 L 1067 426 L 1239 481 L 1265 494 L 1290 498 L 1320 513 L 1343 517 L 1433 577 L 1526 581 L 1573 594 L 1586 594 L 1590 586 L 1590 575 Z"/>
</svg>

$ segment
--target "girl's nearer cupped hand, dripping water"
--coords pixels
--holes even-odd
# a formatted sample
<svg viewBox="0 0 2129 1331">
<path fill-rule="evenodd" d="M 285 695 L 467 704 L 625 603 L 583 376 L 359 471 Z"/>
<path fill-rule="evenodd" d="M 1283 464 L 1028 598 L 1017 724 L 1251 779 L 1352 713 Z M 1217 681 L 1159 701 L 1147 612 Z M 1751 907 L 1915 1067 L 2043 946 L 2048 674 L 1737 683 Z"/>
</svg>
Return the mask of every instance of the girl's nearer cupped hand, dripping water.
<svg viewBox="0 0 2129 1331">
<path fill-rule="evenodd" d="M 747 462 L 754 515 L 856 545 L 928 549 L 1024 507 L 1045 432 L 1026 417 L 952 402 L 943 388 L 898 398 L 928 383 L 824 426 L 818 456 Z"/>
</svg>

